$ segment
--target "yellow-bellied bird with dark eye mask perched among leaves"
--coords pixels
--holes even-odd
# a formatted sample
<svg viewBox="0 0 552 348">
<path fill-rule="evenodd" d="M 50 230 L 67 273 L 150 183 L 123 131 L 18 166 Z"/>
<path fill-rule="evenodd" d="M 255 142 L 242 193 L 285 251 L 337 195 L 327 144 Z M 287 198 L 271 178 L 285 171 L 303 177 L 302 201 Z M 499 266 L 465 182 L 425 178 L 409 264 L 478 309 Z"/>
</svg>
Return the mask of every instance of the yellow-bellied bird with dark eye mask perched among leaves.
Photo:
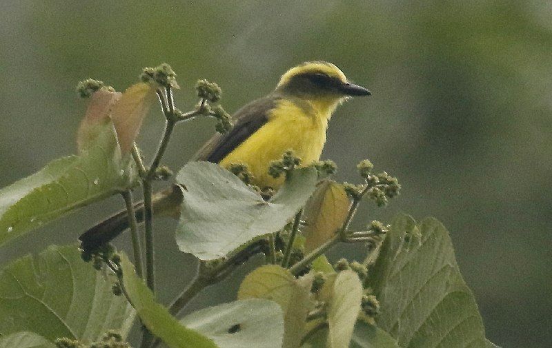
<svg viewBox="0 0 552 348">
<path fill-rule="evenodd" d="M 233 128 L 205 143 L 192 161 L 208 161 L 221 167 L 245 165 L 253 174 L 252 184 L 277 190 L 283 178 L 273 178 L 268 167 L 292 151 L 299 166 L 319 161 L 326 130 L 337 106 L 353 96 L 370 96 L 366 88 L 349 81 L 342 70 L 326 61 L 310 61 L 286 71 L 275 90 L 240 108 L 231 117 Z M 178 216 L 181 190 L 178 187 L 153 196 L 154 212 Z M 137 220 L 144 218 L 141 203 Z M 94 248 L 128 228 L 126 210 L 88 229 L 81 246 Z"/>
</svg>

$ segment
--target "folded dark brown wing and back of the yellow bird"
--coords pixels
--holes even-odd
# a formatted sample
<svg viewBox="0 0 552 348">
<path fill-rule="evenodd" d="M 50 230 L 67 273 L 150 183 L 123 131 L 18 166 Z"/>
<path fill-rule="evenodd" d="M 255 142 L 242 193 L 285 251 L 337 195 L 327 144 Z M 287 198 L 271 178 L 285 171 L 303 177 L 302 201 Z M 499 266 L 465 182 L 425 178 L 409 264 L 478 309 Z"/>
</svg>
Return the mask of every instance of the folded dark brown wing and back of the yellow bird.
<svg viewBox="0 0 552 348">
<path fill-rule="evenodd" d="M 233 116 L 234 127 L 226 134 L 216 134 L 193 156 L 192 161 L 219 163 L 268 121 L 278 96 L 268 95 L 239 109 Z"/>
</svg>

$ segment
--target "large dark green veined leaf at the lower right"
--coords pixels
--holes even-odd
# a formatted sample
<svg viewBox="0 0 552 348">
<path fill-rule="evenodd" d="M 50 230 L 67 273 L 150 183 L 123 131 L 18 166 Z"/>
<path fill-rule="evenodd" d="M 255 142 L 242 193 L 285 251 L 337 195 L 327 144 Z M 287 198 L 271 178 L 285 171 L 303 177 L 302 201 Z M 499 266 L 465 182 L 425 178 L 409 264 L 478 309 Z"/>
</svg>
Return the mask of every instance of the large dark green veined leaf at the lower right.
<svg viewBox="0 0 552 348">
<path fill-rule="evenodd" d="M 435 219 L 397 216 L 369 274 L 381 305 L 377 326 L 400 347 L 487 347 L 449 233 Z"/>
</svg>

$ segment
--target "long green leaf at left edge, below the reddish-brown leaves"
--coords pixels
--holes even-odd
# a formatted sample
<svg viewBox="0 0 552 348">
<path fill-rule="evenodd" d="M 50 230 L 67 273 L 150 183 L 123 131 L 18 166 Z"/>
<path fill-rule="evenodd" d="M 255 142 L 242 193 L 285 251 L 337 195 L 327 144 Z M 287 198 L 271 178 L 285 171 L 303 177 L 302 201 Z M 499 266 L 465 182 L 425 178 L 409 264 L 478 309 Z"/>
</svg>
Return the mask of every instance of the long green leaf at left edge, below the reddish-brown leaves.
<svg viewBox="0 0 552 348">
<path fill-rule="evenodd" d="M 136 173 L 121 157 L 111 123 L 79 156 L 52 161 L 0 190 L 0 245 L 63 214 L 131 187 Z"/>
</svg>

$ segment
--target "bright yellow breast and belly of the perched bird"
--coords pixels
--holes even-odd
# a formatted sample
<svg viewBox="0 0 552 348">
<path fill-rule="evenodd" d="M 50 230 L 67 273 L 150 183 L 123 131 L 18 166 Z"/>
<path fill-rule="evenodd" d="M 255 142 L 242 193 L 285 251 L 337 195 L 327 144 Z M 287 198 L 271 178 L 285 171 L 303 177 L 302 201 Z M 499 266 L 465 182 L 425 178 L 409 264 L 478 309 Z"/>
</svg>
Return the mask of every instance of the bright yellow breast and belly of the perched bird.
<svg viewBox="0 0 552 348">
<path fill-rule="evenodd" d="M 336 103 L 337 104 L 337 103 Z M 318 161 L 326 143 L 328 119 L 335 105 L 317 105 L 306 101 L 282 99 L 268 114 L 268 121 L 246 141 L 220 161 L 220 165 L 241 163 L 248 166 L 259 187 L 277 188 L 283 178 L 268 175 L 268 166 L 292 150 L 301 165 Z"/>
</svg>

